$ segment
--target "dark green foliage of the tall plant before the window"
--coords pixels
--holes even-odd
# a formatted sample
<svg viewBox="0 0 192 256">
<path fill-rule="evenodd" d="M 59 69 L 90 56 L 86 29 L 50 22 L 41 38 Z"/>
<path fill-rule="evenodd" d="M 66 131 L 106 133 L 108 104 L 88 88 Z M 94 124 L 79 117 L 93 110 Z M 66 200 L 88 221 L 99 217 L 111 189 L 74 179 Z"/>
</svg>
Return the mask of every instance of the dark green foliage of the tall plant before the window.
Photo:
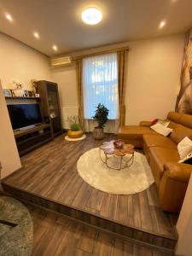
<svg viewBox="0 0 192 256">
<path fill-rule="evenodd" d="M 108 108 L 106 108 L 103 104 L 99 103 L 96 107 L 96 113 L 92 117 L 98 123 L 98 128 L 103 128 L 104 125 L 108 122 Z"/>
</svg>

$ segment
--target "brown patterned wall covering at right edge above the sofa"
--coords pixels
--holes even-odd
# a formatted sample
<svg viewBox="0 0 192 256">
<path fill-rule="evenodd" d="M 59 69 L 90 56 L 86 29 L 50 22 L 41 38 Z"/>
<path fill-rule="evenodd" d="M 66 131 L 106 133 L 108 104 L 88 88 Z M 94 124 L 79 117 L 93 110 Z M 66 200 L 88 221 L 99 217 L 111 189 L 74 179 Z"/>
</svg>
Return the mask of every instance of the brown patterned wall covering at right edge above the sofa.
<svg viewBox="0 0 192 256">
<path fill-rule="evenodd" d="M 180 113 L 192 113 L 191 81 L 189 69 L 192 67 L 192 29 L 186 34 L 185 47 L 183 52 L 183 65 L 181 70 L 181 87 L 177 96 L 176 111 Z"/>
</svg>

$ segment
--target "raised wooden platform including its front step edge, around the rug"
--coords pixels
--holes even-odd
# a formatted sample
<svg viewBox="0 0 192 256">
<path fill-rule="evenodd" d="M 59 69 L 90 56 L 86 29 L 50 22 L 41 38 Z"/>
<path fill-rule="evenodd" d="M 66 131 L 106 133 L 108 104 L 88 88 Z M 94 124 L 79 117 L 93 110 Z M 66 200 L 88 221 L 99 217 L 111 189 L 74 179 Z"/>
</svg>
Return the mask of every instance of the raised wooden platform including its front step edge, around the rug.
<svg viewBox="0 0 192 256">
<path fill-rule="evenodd" d="M 161 211 L 154 185 L 136 195 L 111 195 L 90 187 L 79 177 L 79 156 L 101 143 L 91 135 L 79 142 L 57 137 L 23 156 L 23 169 L 4 178 L 3 189 L 20 200 L 172 251 L 177 242 L 177 215 Z"/>
</svg>

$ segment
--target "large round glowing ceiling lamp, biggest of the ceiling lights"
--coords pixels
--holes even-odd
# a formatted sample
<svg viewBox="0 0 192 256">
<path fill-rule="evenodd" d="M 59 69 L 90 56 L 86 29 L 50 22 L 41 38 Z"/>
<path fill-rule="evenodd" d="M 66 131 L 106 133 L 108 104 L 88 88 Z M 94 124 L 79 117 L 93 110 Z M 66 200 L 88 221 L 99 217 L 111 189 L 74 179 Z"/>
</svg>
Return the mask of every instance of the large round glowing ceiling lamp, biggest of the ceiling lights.
<svg viewBox="0 0 192 256">
<path fill-rule="evenodd" d="M 102 12 L 95 7 L 90 7 L 88 9 L 84 9 L 81 18 L 86 24 L 96 25 L 102 21 Z"/>
</svg>

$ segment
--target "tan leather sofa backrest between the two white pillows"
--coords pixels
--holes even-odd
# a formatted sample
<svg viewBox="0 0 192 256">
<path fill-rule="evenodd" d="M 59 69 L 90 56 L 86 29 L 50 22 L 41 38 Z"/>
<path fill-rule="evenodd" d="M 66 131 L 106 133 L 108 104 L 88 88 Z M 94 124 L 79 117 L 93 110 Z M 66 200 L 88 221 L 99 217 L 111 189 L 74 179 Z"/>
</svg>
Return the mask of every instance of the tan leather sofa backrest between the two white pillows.
<svg viewBox="0 0 192 256">
<path fill-rule="evenodd" d="M 171 139 L 174 143 L 180 143 L 184 137 L 189 137 L 192 140 L 191 114 L 170 112 L 167 119 L 171 121 L 169 126 L 173 128 Z"/>
</svg>

